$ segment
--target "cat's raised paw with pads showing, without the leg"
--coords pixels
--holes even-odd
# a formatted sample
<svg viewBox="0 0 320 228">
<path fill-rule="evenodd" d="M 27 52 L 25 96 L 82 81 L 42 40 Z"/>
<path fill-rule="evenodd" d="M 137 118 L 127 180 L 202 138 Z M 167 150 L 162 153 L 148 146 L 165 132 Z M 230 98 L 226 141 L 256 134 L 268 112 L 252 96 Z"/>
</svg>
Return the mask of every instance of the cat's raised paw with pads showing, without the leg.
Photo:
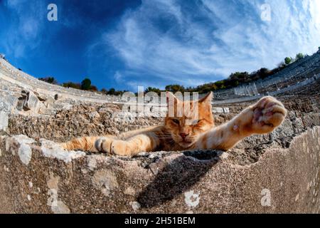
<svg viewBox="0 0 320 228">
<path fill-rule="evenodd" d="M 251 130 L 253 133 L 270 133 L 284 121 L 287 110 L 284 105 L 271 96 L 261 98 L 250 108 L 252 111 Z"/>
</svg>

